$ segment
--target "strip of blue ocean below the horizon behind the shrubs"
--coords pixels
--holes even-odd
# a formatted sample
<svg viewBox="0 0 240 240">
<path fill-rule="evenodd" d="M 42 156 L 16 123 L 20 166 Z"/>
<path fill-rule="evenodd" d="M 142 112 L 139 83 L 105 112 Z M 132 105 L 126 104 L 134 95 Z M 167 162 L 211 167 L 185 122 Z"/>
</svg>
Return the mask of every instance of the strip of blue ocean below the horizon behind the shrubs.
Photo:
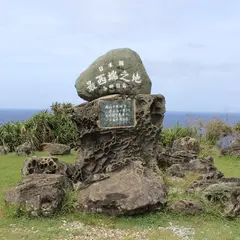
<svg viewBox="0 0 240 240">
<path fill-rule="evenodd" d="M 25 121 L 31 118 L 39 109 L 0 109 L 0 124 L 7 122 Z M 240 121 L 240 113 L 197 113 L 197 112 L 166 112 L 163 126 L 173 127 L 179 123 L 186 126 L 194 120 L 208 121 L 217 117 L 226 123 L 233 125 Z"/>
</svg>

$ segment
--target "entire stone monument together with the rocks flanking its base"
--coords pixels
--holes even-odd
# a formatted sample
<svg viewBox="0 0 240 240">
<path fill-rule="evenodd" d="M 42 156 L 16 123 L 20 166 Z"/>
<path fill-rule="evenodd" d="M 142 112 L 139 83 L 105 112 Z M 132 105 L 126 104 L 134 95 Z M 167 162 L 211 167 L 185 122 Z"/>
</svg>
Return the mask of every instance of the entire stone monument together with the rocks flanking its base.
<svg viewBox="0 0 240 240">
<path fill-rule="evenodd" d="M 75 87 L 87 100 L 69 110 L 79 136 L 75 164 L 56 156 L 27 158 L 23 179 L 7 191 L 6 205 L 31 216 L 51 216 L 62 209 L 66 193 L 75 191 L 78 211 L 119 216 L 166 207 L 189 215 L 205 211 L 200 199 L 194 200 L 198 193 L 201 201 L 220 204 L 223 215 L 240 215 L 240 179 L 224 178 L 212 157 L 200 157 L 196 139 L 184 137 L 172 147 L 160 146 L 165 99 L 151 94 L 151 80 L 136 52 L 109 51 L 79 76 Z M 59 144 L 44 145 L 52 155 L 70 152 Z M 189 197 L 167 203 L 161 171 L 170 182 L 195 174 L 197 180 L 179 190 Z M 176 194 L 171 185 L 169 192 Z"/>
</svg>

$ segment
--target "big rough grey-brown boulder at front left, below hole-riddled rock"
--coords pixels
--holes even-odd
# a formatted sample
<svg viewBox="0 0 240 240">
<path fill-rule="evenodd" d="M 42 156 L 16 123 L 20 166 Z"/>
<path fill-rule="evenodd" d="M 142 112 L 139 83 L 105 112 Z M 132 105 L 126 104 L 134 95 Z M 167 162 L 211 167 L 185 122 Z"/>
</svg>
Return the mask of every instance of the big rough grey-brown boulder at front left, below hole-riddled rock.
<svg viewBox="0 0 240 240">
<path fill-rule="evenodd" d="M 13 205 L 31 216 L 51 216 L 62 207 L 71 181 L 57 174 L 33 174 L 6 193 L 6 205 Z"/>
</svg>

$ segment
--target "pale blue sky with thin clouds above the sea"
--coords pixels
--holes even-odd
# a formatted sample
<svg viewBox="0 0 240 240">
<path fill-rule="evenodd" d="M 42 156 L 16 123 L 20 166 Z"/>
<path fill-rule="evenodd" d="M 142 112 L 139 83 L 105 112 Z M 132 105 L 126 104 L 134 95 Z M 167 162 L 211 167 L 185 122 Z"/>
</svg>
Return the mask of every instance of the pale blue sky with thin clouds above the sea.
<svg viewBox="0 0 240 240">
<path fill-rule="evenodd" d="M 84 102 L 96 58 L 138 52 L 167 111 L 240 112 L 239 0 L 0 0 L 0 108 Z"/>
</svg>

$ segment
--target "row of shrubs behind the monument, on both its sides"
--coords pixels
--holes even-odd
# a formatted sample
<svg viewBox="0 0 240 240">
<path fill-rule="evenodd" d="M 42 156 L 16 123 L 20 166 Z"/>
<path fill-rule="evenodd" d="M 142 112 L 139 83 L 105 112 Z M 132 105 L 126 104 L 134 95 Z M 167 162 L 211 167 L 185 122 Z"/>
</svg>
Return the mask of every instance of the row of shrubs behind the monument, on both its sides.
<svg viewBox="0 0 240 240">
<path fill-rule="evenodd" d="M 0 124 L 0 145 L 7 146 L 10 151 L 24 142 L 30 142 L 37 150 L 42 150 L 45 142 L 55 142 L 76 146 L 76 125 L 70 120 L 68 110 L 71 103 L 54 103 L 51 111 L 42 111 L 24 122 L 9 122 Z M 201 143 L 216 145 L 222 137 L 240 136 L 240 122 L 233 126 L 218 118 L 210 121 L 190 119 L 188 126 L 176 124 L 173 128 L 164 128 L 160 136 L 160 143 L 164 147 L 171 147 L 173 141 L 190 136 Z"/>
</svg>

